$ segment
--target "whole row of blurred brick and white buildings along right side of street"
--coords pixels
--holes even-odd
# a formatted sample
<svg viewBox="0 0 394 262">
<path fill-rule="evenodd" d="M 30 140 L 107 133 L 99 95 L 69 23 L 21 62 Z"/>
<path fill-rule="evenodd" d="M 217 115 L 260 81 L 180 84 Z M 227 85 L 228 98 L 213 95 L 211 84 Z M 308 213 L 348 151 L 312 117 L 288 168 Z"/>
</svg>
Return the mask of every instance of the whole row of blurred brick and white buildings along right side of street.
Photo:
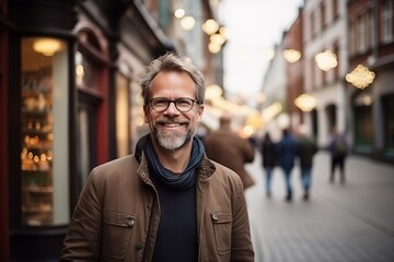
<svg viewBox="0 0 394 262">
<path fill-rule="evenodd" d="M 278 94 L 287 93 L 273 121 L 285 114 L 290 128 L 305 123 L 322 147 L 337 128 L 354 153 L 394 162 L 393 5 L 393 0 L 305 0 L 276 47 L 276 57 L 297 50 L 301 59 L 287 63 L 283 80 L 278 78 L 283 68 L 275 69 L 281 59 L 274 58 L 265 75 L 267 100 L 280 102 Z"/>
</svg>

